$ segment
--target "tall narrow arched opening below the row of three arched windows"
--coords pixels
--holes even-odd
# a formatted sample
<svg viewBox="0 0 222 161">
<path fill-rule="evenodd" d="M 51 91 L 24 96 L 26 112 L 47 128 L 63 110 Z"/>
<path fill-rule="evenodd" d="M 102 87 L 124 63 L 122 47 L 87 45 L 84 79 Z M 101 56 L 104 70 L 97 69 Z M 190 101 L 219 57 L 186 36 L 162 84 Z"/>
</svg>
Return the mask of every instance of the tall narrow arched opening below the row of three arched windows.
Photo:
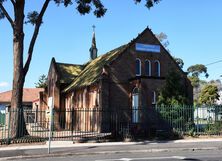
<svg viewBox="0 0 222 161">
<path fill-rule="evenodd" d="M 132 92 L 132 122 L 139 122 L 139 89 L 136 87 Z"/>
</svg>

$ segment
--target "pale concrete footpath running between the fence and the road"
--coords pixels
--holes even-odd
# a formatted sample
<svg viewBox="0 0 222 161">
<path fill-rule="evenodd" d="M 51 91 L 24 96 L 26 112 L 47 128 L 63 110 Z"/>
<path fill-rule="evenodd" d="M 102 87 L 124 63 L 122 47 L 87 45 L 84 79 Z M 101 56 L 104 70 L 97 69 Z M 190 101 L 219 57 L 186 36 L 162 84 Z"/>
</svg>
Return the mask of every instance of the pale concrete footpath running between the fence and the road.
<svg viewBox="0 0 222 161">
<path fill-rule="evenodd" d="M 222 138 L 182 139 L 175 141 L 77 143 L 53 141 L 50 154 L 48 142 L 0 146 L 0 160 L 59 157 L 70 155 L 154 153 L 222 149 Z"/>
</svg>

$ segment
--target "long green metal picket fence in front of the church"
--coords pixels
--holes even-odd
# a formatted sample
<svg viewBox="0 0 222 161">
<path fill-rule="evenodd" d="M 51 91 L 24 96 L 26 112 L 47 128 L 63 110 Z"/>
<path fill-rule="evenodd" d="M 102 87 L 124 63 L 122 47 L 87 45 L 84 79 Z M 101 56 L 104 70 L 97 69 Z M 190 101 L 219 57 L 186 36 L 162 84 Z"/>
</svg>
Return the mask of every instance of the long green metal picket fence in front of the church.
<svg viewBox="0 0 222 161">
<path fill-rule="evenodd" d="M 13 135 L 13 117 L 27 130 L 27 135 Z M 0 112 L 0 144 L 48 140 L 52 116 L 52 140 L 102 141 L 137 137 L 180 135 L 221 135 L 222 106 L 160 106 L 116 108 L 116 110 L 70 109 L 49 111 L 10 110 Z M 23 128 L 17 133 L 24 132 Z M 22 126 L 20 126 L 22 127 Z"/>
</svg>

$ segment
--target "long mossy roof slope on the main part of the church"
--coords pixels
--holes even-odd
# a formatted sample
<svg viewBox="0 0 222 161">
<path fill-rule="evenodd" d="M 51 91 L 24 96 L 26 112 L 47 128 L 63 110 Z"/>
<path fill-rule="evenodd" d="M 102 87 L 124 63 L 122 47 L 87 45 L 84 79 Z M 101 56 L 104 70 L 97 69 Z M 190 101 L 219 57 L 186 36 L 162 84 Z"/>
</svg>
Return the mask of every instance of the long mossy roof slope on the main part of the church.
<svg viewBox="0 0 222 161">
<path fill-rule="evenodd" d="M 74 88 L 89 86 L 95 83 L 100 78 L 104 65 L 108 65 L 115 60 L 127 46 L 128 45 L 120 46 L 94 60 L 89 61 L 85 68 L 80 72 L 79 76 L 76 77 L 74 81 L 63 90 L 63 92 L 70 91 Z"/>
</svg>

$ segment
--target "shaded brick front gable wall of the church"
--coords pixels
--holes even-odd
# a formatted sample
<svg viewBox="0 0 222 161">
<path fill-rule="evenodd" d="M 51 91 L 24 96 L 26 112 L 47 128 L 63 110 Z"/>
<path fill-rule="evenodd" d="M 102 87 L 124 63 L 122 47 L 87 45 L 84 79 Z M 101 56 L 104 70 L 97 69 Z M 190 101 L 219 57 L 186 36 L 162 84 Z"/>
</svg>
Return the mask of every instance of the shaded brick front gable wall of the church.
<svg viewBox="0 0 222 161">
<path fill-rule="evenodd" d="M 151 32 L 145 32 L 136 40 L 136 43 L 159 45 L 159 42 L 153 37 Z M 138 85 L 141 87 L 140 105 L 151 107 L 151 93 L 158 91 L 165 83 L 165 77 L 169 70 L 175 69 L 181 77 L 184 78 L 184 86 L 187 86 L 187 96 L 192 103 L 192 86 L 187 80 L 186 75 L 180 70 L 173 58 L 161 46 L 160 53 L 141 52 L 135 50 L 135 43 L 131 45 L 116 61 L 111 64 L 109 69 L 110 87 L 103 89 L 109 91 L 110 108 L 130 107 L 131 106 L 131 92 L 133 88 Z M 154 62 L 160 62 L 160 77 L 135 78 L 135 61 L 136 58 L 141 60 L 142 71 L 141 75 L 145 76 L 145 60 L 150 60 L 152 63 L 152 76 L 154 73 Z"/>
</svg>

